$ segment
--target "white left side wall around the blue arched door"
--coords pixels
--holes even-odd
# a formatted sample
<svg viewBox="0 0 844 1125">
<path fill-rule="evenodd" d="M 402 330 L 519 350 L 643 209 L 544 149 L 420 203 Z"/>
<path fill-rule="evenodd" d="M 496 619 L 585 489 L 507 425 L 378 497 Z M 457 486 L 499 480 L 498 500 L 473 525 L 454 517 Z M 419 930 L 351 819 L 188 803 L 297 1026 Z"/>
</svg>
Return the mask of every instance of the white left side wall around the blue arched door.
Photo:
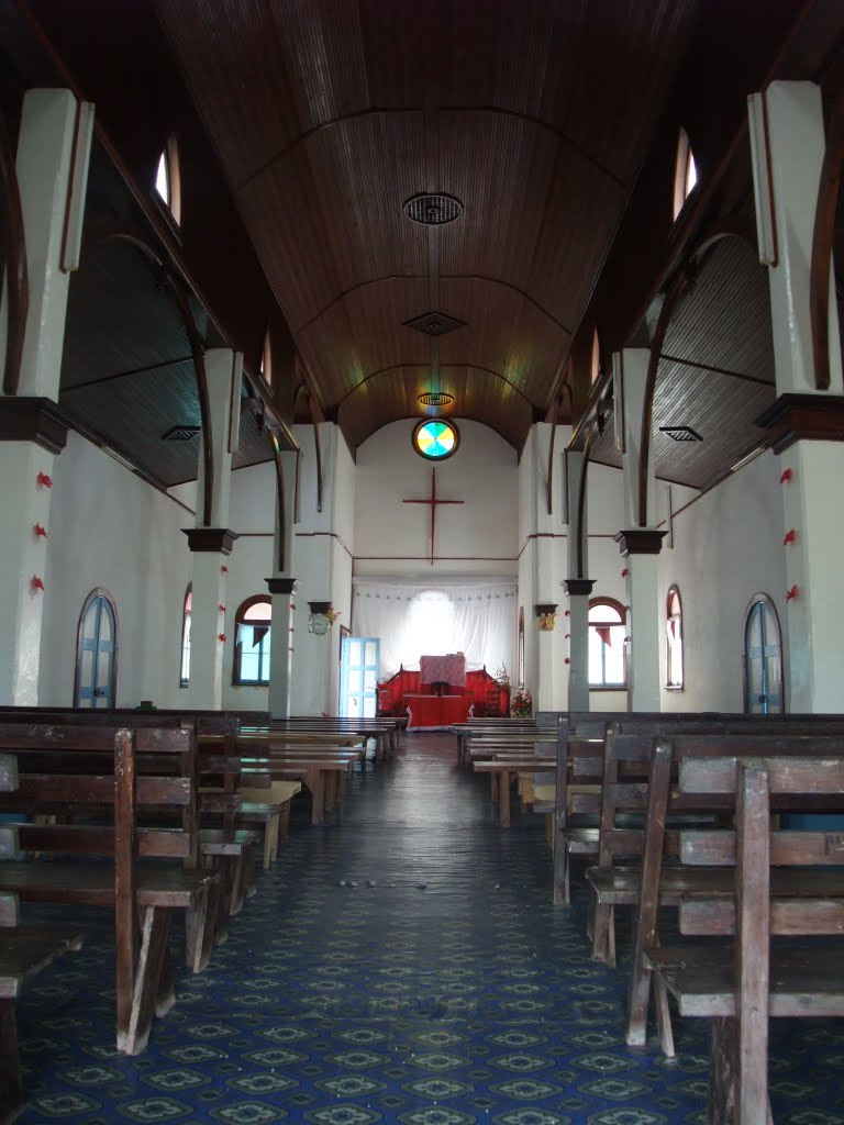
<svg viewBox="0 0 844 1125">
<path fill-rule="evenodd" d="M 96 586 L 117 605 L 117 705 L 177 706 L 192 516 L 73 431 L 56 458 L 39 703 L 71 706 L 79 614 Z"/>
</svg>

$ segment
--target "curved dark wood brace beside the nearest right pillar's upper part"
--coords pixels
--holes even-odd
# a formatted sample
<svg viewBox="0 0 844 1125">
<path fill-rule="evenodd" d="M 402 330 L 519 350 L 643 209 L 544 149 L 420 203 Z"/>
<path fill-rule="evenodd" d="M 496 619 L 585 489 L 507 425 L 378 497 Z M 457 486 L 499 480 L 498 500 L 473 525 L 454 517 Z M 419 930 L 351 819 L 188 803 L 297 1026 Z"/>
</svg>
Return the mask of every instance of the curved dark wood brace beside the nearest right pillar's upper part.
<svg viewBox="0 0 844 1125">
<path fill-rule="evenodd" d="M 829 278 L 842 171 L 844 171 L 844 105 L 839 98 L 833 109 L 826 138 L 809 267 L 811 350 L 815 360 L 815 387 L 818 390 L 829 389 Z"/>
</svg>

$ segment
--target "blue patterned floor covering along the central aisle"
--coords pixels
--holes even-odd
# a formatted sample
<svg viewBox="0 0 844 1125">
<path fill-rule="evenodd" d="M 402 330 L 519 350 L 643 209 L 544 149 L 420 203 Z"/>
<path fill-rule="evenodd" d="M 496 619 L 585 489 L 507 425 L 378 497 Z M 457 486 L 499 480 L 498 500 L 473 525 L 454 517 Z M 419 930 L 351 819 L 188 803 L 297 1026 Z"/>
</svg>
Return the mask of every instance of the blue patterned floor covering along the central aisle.
<svg viewBox="0 0 844 1125">
<path fill-rule="evenodd" d="M 671 1063 L 625 1045 L 623 956 L 590 961 L 583 897 L 550 906 L 541 818 L 497 828 L 450 738 L 370 763 L 339 825 L 294 819 L 140 1058 L 114 1051 L 109 921 L 84 914 L 86 950 L 19 1005 L 20 1125 L 704 1120 L 706 1022 L 677 1023 Z M 842 1125 L 844 1025 L 773 1034 L 778 1125 Z"/>
</svg>

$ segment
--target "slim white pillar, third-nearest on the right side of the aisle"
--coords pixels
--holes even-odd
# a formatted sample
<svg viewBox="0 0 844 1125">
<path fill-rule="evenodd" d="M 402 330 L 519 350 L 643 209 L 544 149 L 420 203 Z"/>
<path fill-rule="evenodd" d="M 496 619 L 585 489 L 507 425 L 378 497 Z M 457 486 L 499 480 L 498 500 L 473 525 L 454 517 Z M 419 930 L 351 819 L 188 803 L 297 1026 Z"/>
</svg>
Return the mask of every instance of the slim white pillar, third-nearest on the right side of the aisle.
<svg viewBox="0 0 844 1125">
<path fill-rule="evenodd" d="M 594 582 L 589 574 L 589 524 L 584 493 L 581 511 L 581 482 L 587 472 L 582 452 L 569 450 L 566 487 L 568 492 L 568 578 L 564 585 L 568 595 L 565 632 L 568 637 L 568 709 L 589 711 L 589 600 Z M 589 478 L 586 478 L 589 479 Z"/>
</svg>

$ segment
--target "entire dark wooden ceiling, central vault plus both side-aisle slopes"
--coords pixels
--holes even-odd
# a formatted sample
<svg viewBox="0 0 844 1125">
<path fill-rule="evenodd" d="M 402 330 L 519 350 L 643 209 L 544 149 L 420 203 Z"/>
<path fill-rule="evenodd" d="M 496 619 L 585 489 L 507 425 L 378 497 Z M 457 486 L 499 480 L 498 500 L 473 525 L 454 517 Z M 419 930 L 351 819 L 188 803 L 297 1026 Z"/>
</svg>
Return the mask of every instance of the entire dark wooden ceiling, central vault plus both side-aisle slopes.
<svg viewBox="0 0 844 1125">
<path fill-rule="evenodd" d="M 243 351 L 264 398 L 269 327 L 285 421 L 311 400 L 356 449 L 441 390 L 439 413 L 521 449 L 533 421 L 577 421 L 595 327 L 604 361 L 649 342 L 695 231 L 735 215 L 752 228 L 746 96 L 810 78 L 832 102 L 843 27 L 833 0 L 766 0 L 763 16 L 735 0 L 0 0 L 0 109 L 14 134 L 27 86 L 97 104 L 87 234 L 152 230 L 206 345 Z M 671 215 L 680 125 L 701 173 L 694 226 Z M 152 190 L 171 134 L 177 235 Z M 461 216 L 412 223 L 420 192 Z M 775 390 L 754 248 L 727 238 L 699 267 L 661 353 L 654 449 L 658 475 L 704 487 L 757 443 Z M 431 312 L 458 326 L 407 325 Z M 127 244 L 89 240 L 73 276 L 61 405 L 155 483 L 196 475 L 198 441 L 162 441 L 199 421 L 187 336 Z M 235 465 L 269 457 L 260 420 L 250 398 Z M 619 464 L 604 422 L 593 457 Z"/>
</svg>

